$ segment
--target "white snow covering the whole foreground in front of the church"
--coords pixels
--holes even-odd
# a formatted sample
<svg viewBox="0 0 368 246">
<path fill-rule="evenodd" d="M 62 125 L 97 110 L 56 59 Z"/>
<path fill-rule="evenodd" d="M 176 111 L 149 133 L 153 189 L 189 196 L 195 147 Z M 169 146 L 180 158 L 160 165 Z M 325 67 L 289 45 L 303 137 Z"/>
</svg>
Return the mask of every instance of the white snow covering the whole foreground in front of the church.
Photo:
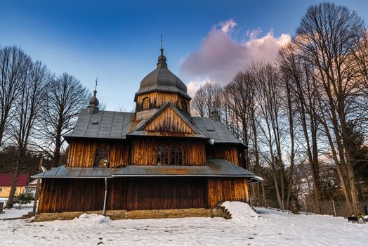
<svg viewBox="0 0 368 246">
<path fill-rule="evenodd" d="M 83 214 L 71 221 L 0 221 L 0 238 L 2 245 L 367 245 L 368 224 L 265 208 L 256 214 L 242 202 L 224 205 L 232 219 L 112 221 Z"/>
</svg>

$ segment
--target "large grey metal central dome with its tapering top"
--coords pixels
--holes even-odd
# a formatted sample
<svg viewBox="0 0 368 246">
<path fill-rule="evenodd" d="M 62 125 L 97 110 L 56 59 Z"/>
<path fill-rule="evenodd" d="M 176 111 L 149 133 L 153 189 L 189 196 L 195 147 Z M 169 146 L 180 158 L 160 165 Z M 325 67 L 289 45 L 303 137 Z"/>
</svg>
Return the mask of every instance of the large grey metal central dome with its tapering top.
<svg viewBox="0 0 368 246">
<path fill-rule="evenodd" d="M 188 98 L 188 100 L 191 99 L 187 93 L 187 86 L 167 68 L 163 49 L 161 49 L 157 68 L 150 72 L 142 82 L 140 82 L 140 87 L 134 101 L 136 101 L 138 95 L 153 91 L 178 93 L 184 98 Z"/>
</svg>

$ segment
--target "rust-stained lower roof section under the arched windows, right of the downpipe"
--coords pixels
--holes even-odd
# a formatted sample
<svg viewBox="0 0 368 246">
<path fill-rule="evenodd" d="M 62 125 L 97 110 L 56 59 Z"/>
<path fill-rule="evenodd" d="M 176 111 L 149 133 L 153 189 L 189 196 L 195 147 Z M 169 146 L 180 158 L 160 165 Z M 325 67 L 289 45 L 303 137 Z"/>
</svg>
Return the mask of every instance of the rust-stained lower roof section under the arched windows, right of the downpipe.
<svg viewBox="0 0 368 246">
<path fill-rule="evenodd" d="M 223 159 L 209 159 L 206 166 L 130 165 L 112 176 L 213 176 L 255 178 L 251 171 Z"/>
</svg>

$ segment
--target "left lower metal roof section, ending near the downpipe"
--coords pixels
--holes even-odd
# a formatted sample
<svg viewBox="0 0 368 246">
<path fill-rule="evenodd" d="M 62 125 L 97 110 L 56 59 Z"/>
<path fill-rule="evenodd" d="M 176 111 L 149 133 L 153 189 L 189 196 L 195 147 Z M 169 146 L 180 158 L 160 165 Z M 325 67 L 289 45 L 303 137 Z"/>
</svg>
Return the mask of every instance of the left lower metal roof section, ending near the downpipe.
<svg viewBox="0 0 368 246">
<path fill-rule="evenodd" d="M 97 179 L 111 178 L 114 172 L 119 169 L 105 167 L 53 167 L 48 171 L 33 175 L 34 179 L 44 178 L 79 178 L 79 179 Z"/>
</svg>

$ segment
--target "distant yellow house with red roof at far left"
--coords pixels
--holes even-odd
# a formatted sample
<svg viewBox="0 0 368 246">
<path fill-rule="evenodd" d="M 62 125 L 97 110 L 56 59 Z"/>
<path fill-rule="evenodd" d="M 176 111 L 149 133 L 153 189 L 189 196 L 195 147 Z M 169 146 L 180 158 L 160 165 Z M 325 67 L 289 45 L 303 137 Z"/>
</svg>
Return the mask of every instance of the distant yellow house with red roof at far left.
<svg viewBox="0 0 368 246">
<path fill-rule="evenodd" d="M 8 198 L 11 193 L 11 182 L 13 174 L 0 174 L 0 198 Z M 25 193 L 25 188 L 29 182 L 29 174 L 19 174 L 15 195 Z"/>
</svg>

